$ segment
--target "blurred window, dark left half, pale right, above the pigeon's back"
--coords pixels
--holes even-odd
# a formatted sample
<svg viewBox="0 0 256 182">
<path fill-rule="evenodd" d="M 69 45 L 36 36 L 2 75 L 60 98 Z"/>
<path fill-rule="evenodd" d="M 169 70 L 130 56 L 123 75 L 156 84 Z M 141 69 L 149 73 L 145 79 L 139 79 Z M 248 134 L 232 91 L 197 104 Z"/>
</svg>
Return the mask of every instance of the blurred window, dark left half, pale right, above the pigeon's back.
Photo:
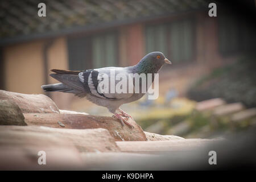
<svg viewBox="0 0 256 182">
<path fill-rule="evenodd" d="M 68 38 L 68 59 L 71 70 L 117 66 L 117 34 Z"/>
</svg>

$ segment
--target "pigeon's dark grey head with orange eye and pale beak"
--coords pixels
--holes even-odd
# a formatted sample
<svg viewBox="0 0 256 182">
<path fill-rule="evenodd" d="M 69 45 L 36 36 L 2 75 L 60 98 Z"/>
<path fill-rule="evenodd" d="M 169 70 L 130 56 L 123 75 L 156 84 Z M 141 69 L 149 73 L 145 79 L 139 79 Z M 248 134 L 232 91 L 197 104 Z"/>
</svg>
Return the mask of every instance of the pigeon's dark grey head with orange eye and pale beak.
<svg viewBox="0 0 256 182">
<path fill-rule="evenodd" d="M 138 67 L 142 72 L 154 73 L 158 72 L 164 63 L 172 64 L 162 52 L 150 52 L 139 61 Z"/>
</svg>

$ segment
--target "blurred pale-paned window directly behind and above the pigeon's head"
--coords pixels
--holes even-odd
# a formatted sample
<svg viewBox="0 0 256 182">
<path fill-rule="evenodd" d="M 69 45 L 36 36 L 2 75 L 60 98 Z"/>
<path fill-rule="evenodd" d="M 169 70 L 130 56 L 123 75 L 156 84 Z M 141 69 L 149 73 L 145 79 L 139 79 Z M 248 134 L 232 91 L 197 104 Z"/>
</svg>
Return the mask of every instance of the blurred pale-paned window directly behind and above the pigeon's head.
<svg viewBox="0 0 256 182">
<path fill-rule="evenodd" d="M 146 27 L 146 51 L 161 51 L 174 62 L 193 57 L 193 21 L 179 20 Z"/>
</svg>

